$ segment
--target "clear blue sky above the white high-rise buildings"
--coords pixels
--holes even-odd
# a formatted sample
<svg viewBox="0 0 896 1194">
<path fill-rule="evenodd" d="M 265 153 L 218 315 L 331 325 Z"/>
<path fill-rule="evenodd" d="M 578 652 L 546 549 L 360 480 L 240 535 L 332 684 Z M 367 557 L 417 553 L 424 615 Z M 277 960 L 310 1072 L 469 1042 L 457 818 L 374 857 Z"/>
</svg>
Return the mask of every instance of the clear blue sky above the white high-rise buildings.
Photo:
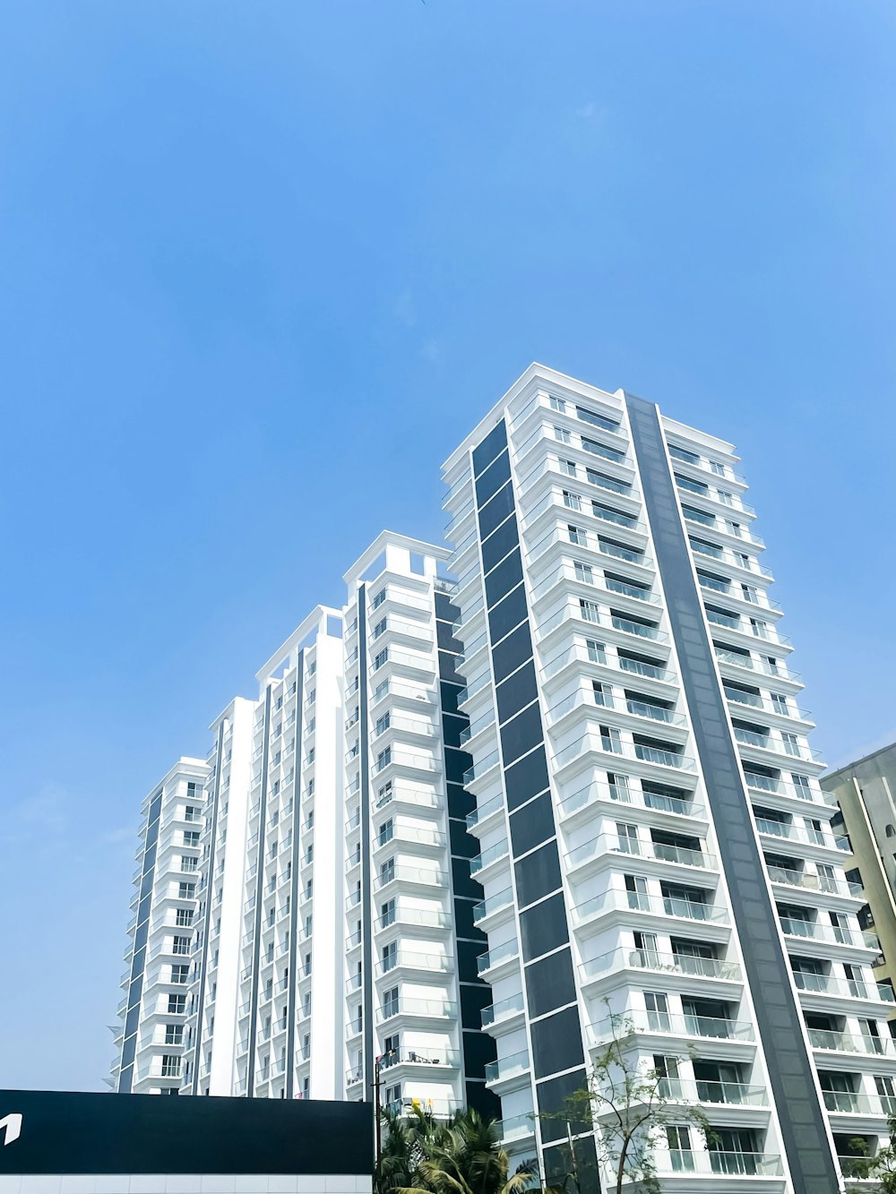
<svg viewBox="0 0 896 1194">
<path fill-rule="evenodd" d="M 890 0 L 0 8 L 0 1085 L 99 1089 L 142 796 L 533 361 L 734 441 L 891 700 Z"/>
</svg>

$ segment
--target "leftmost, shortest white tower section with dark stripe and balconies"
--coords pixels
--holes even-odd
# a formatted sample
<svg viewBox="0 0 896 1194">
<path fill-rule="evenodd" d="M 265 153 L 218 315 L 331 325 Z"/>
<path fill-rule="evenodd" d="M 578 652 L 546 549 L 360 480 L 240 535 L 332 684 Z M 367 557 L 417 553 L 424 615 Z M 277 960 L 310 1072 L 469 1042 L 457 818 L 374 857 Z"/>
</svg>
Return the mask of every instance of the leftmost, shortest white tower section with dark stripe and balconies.
<svg viewBox="0 0 896 1194">
<path fill-rule="evenodd" d="M 201 880 L 207 764 L 180 758 L 143 801 L 110 1085 L 178 1094 Z"/>
</svg>

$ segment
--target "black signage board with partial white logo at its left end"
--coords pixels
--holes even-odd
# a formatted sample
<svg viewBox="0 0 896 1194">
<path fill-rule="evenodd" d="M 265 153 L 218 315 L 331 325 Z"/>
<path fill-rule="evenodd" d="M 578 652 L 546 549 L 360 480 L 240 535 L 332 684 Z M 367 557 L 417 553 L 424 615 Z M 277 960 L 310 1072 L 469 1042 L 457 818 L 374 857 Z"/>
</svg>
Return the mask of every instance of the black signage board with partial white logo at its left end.
<svg viewBox="0 0 896 1194">
<path fill-rule="evenodd" d="M 0 1174 L 372 1170 L 369 1103 L 0 1090 Z"/>
</svg>

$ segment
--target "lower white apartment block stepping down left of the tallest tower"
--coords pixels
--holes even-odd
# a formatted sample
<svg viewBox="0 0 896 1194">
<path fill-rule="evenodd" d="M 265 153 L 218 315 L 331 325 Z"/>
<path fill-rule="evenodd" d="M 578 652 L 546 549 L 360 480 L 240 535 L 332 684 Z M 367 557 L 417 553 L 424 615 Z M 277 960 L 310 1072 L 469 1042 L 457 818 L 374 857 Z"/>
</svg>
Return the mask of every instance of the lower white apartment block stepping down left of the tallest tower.
<svg viewBox="0 0 896 1194">
<path fill-rule="evenodd" d="M 178 984 L 176 1032 L 142 1065 L 147 1081 L 158 1070 L 172 1093 L 372 1100 L 379 1071 L 383 1103 L 497 1114 L 448 554 L 383 533 L 346 573 L 346 605 L 314 609 L 258 672 L 257 700 L 234 698 L 211 724 L 178 888 L 189 910 L 170 913 L 158 875 L 151 887 L 135 876 L 148 892 L 137 950 L 147 923 L 157 952 L 166 917 L 189 925 L 173 947 L 183 962 L 164 972 Z M 176 800 L 186 762 L 159 799 Z M 133 970 L 119 1090 L 134 1089 L 134 1040 L 154 1030 Z"/>
</svg>

